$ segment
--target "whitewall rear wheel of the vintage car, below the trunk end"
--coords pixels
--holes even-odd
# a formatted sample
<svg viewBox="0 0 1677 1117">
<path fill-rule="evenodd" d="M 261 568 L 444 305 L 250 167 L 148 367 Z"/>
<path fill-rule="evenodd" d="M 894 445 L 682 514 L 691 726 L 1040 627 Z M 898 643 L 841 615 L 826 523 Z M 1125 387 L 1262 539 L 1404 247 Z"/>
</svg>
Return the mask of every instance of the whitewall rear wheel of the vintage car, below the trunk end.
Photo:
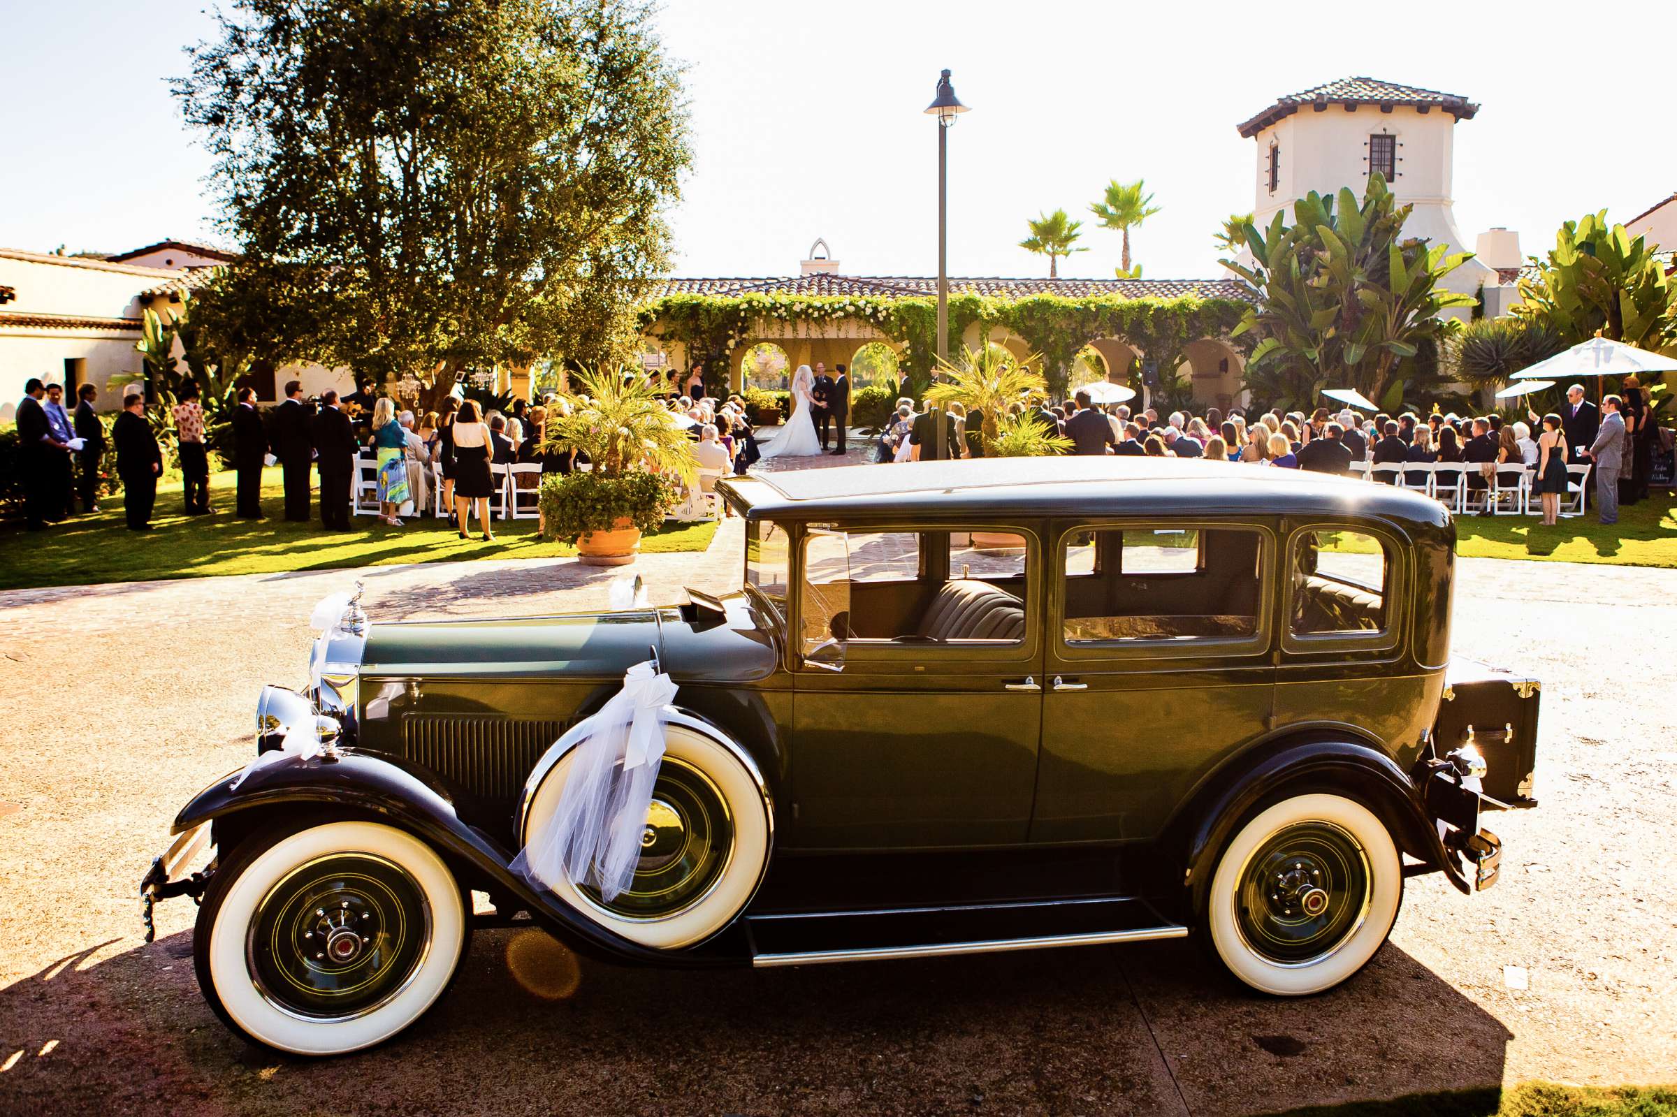
<svg viewBox="0 0 1677 1117">
<path fill-rule="evenodd" d="M 1402 859 L 1373 812 L 1342 795 L 1293 795 L 1224 847 L 1202 929 L 1238 981 L 1300 996 L 1362 969 L 1402 899 Z"/>
</svg>

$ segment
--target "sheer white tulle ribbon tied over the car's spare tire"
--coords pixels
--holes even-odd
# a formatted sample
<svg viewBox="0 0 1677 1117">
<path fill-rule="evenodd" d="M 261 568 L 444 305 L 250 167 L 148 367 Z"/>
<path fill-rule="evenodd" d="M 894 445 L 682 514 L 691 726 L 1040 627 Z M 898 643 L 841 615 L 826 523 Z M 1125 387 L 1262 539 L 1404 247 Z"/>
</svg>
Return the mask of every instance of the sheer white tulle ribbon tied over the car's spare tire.
<svg viewBox="0 0 1677 1117">
<path fill-rule="evenodd" d="M 577 726 L 587 736 L 572 750 L 558 808 L 540 845 L 513 859 L 513 870 L 543 887 L 592 884 L 607 901 L 629 887 L 674 698 L 676 684 L 651 661 L 629 668 L 624 688 Z"/>
</svg>

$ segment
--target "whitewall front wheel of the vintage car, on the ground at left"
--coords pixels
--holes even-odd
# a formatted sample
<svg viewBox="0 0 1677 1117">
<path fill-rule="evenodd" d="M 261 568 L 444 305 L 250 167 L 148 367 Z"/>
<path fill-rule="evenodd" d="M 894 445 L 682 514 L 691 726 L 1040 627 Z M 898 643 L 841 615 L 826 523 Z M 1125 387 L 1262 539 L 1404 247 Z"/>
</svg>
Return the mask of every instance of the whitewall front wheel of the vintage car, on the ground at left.
<svg viewBox="0 0 1677 1117">
<path fill-rule="evenodd" d="M 391 1038 L 443 993 L 465 944 L 448 865 L 376 822 L 248 839 L 216 869 L 193 931 L 198 985 L 223 1023 L 293 1055 Z"/>
</svg>

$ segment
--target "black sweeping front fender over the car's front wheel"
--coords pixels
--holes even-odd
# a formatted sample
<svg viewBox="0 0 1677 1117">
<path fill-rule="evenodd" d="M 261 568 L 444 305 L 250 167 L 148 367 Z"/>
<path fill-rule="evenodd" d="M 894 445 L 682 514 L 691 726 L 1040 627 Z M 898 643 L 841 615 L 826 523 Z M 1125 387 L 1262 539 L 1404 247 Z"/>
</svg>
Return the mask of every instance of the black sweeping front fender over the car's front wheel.
<svg viewBox="0 0 1677 1117">
<path fill-rule="evenodd" d="M 416 766 L 391 756 L 339 750 L 337 760 L 302 760 L 268 753 L 238 790 L 238 773 L 230 773 L 193 797 L 174 818 L 173 834 L 205 822 L 272 807 L 330 807 L 356 815 L 382 817 L 391 825 L 429 842 L 444 857 L 481 872 L 496 889 L 515 896 L 548 931 L 579 953 L 620 963 L 652 966 L 713 968 L 736 964 L 724 954 L 656 951 L 577 916 L 547 889 L 533 889 L 508 865 L 511 854 L 468 825 L 454 810 L 446 787 Z"/>
</svg>

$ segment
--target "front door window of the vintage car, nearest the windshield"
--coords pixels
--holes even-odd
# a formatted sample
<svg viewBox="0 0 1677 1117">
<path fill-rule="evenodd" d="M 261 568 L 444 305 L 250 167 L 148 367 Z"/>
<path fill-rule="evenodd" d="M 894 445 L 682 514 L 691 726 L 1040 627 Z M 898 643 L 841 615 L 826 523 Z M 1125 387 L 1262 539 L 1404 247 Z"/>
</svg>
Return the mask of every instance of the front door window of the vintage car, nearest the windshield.
<svg viewBox="0 0 1677 1117">
<path fill-rule="evenodd" d="M 1028 555 L 1030 542 L 1016 533 L 812 533 L 803 550 L 803 600 L 844 600 L 850 642 L 1018 644 L 1026 629 Z"/>
</svg>

